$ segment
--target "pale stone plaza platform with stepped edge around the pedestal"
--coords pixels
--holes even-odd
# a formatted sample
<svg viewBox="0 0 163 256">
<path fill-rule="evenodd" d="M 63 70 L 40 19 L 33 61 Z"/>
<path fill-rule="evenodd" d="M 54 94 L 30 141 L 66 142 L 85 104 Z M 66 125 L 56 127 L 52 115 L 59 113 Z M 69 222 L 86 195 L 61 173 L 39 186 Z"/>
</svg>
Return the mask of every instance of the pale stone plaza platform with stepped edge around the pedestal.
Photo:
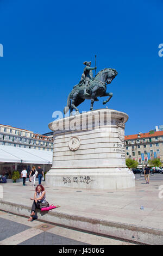
<svg viewBox="0 0 163 256">
<path fill-rule="evenodd" d="M 37 220 L 78 231 L 162 245 L 163 192 L 160 186 L 163 186 L 163 175 L 155 174 L 150 181 L 150 184 L 146 184 L 143 176 L 136 175 L 135 188 L 103 191 L 45 186 L 49 204 L 60 205 L 60 208 L 43 214 L 38 211 Z M 26 184 L 2 184 L 0 209 L 29 216 L 32 206 L 30 197 L 34 195 L 34 188 L 29 182 Z M 38 225 L 37 221 L 32 223 Z M 26 231 L 29 225 L 27 218 L 23 224 L 23 231 Z"/>
</svg>

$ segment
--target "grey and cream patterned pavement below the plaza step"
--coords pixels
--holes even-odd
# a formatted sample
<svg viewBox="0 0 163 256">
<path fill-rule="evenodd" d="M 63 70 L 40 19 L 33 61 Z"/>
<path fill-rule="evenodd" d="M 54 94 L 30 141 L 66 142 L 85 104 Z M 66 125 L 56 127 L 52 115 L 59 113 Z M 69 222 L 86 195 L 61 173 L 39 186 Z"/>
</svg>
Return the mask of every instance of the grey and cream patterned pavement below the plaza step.
<svg viewBox="0 0 163 256">
<path fill-rule="evenodd" d="M 131 245 L 0 211 L 0 245 Z"/>
</svg>

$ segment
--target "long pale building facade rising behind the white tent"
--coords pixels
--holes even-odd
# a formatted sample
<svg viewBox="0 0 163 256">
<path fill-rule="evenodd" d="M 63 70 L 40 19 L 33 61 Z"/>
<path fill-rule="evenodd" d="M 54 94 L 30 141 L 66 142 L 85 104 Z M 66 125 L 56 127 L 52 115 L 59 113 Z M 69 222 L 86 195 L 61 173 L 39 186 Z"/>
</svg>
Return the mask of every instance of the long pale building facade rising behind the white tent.
<svg viewBox="0 0 163 256">
<path fill-rule="evenodd" d="M 53 138 L 0 124 L 0 145 L 53 151 Z"/>
</svg>

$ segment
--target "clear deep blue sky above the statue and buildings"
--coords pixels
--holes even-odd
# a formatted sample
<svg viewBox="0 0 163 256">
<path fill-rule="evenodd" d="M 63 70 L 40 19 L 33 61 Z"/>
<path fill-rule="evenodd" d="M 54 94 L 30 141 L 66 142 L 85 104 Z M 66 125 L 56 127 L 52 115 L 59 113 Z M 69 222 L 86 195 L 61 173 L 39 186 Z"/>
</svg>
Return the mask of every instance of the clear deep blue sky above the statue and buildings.
<svg viewBox="0 0 163 256">
<path fill-rule="evenodd" d="M 126 135 L 148 132 L 162 120 L 161 0 L 0 0 L 1 124 L 48 132 L 82 75 L 114 68 L 108 108 L 126 112 Z M 103 108 L 99 98 L 94 109 Z M 90 100 L 79 110 L 89 111 Z"/>
</svg>

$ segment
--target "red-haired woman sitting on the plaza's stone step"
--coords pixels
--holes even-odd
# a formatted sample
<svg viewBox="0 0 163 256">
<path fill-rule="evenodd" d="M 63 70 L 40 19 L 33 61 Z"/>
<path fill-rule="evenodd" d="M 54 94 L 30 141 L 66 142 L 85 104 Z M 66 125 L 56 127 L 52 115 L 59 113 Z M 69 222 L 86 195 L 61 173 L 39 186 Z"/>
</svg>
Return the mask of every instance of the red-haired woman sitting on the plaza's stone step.
<svg viewBox="0 0 163 256">
<path fill-rule="evenodd" d="M 31 209 L 30 218 L 28 219 L 28 221 L 33 221 L 35 210 L 40 209 L 41 203 L 45 203 L 45 204 L 47 203 L 47 206 L 49 206 L 48 202 L 45 199 L 46 199 L 45 188 L 42 185 L 37 185 L 34 193 L 34 198 L 30 198 L 30 200 L 33 200 L 33 205 Z"/>
</svg>

